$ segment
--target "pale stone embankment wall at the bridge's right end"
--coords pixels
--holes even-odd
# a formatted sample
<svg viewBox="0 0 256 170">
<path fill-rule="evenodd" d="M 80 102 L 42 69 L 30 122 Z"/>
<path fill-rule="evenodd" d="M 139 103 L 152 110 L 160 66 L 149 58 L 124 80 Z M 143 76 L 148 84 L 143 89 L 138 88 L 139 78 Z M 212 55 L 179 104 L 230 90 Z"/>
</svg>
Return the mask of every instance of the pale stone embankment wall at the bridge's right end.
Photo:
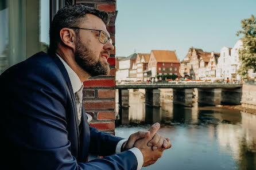
<svg viewBox="0 0 256 170">
<path fill-rule="evenodd" d="M 256 109 L 256 85 L 243 85 L 241 105 L 244 108 Z"/>
</svg>

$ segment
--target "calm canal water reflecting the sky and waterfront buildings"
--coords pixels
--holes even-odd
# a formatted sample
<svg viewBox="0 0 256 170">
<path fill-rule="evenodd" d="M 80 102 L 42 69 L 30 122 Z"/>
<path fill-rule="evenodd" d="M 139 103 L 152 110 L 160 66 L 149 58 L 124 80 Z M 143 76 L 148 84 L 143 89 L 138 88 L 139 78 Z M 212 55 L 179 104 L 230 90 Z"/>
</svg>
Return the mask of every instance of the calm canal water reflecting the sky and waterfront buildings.
<svg viewBox="0 0 256 170">
<path fill-rule="evenodd" d="M 165 94 L 161 107 L 154 108 L 145 104 L 143 93 L 130 90 L 130 107 L 117 109 L 115 135 L 127 139 L 160 122 L 158 133 L 172 143 L 155 164 L 142 169 L 256 170 L 256 115 L 197 102 L 192 108 L 173 105 Z"/>
</svg>

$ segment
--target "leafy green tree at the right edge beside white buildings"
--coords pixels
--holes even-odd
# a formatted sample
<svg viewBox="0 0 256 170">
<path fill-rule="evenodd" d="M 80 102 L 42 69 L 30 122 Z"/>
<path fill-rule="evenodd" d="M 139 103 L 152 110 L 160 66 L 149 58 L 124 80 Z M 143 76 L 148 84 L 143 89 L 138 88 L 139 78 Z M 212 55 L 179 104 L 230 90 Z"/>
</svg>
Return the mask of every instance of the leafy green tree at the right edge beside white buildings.
<svg viewBox="0 0 256 170">
<path fill-rule="evenodd" d="M 243 30 L 236 33 L 238 36 L 243 34 L 243 48 L 238 51 L 239 60 L 242 61 L 238 74 L 242 78 L 247 78 L 249 69 L 256 71 L 256 19 L 251 15 L 251 18 L 242 19 L 241 23 Z"/>
</svg>

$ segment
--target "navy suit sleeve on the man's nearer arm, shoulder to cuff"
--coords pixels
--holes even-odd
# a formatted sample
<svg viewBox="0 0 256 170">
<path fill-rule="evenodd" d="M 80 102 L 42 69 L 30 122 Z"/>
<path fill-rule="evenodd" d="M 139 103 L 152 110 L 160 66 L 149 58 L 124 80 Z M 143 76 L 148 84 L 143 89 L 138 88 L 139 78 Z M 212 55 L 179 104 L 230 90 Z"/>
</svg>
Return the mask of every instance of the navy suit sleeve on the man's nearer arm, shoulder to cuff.
<svg viewBox="0 0 256 170">
<path fill-rule="evenodd" d="M 65 81 L 60 78 L 58 69 L 46 66 L 40 68 L 37 64 L 16 65 L 0 76 L 1 168 L 137 169 L 136 157 L 130 151 L 88 163 L 77 163 L 71 153 L 66 130 L 65 107 L 68 93 L 63 86 Z M 111 141 L 113 140 L 109 140 L 108 144 Z M 107 147 L 100 144 L 98 146 L 99 150 Z M 102 154 L 107 153 L 113 152 Z"/>
</svg>

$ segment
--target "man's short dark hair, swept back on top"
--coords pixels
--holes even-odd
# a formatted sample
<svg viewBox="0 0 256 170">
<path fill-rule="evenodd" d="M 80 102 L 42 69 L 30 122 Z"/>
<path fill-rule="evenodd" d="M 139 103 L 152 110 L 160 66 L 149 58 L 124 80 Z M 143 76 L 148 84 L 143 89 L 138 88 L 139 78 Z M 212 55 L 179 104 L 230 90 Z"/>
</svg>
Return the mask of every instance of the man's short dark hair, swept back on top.
<svg viewBox="0 0 256 170">
<path fill-rule="evenodd" d="M 108 14 L 105 11 L 94 9 L 84 5 L 71 5 L 60 9 L 53 18 L 50 26 L 50 47 L 49 54 L 55 53 L 58 44 L 61 42 L 60 30 L 64 27 L 78 27 L 82 19 L 86 19 L 86 14 L 93 14 L 107 25 Z M 79 30 L 75 30 L 76 34 Z"/>
</svg>

